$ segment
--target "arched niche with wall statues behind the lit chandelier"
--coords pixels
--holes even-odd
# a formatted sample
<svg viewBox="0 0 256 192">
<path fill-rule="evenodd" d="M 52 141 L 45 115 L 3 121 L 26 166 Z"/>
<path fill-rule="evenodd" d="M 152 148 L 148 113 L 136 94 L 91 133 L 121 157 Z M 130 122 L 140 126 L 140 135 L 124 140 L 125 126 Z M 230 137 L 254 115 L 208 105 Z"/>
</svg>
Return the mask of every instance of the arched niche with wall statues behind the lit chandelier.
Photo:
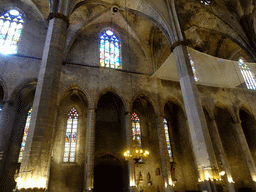
<svg viewBox="0 0 256 192">
<path fill-rule="evenodd" d="M 149 151 L 148 158 L 142 158 L 142 161 L 139 161 L 138 166 L 134 168 L 135 184 L 139 191 L 158 191 L 158 188 L 162 191 L 164 190 L 162 174 L 155 174 L 155 170 L 161 167 L 156 115 L 151 102 L 145 95 L 140 95 L 133 101 L 132 114 L 134 113 L 140 120 L 141 148 Z M 133 116 L 131 116 L 131 122 L 130 131 L 132 132 Z"/>
</svg>

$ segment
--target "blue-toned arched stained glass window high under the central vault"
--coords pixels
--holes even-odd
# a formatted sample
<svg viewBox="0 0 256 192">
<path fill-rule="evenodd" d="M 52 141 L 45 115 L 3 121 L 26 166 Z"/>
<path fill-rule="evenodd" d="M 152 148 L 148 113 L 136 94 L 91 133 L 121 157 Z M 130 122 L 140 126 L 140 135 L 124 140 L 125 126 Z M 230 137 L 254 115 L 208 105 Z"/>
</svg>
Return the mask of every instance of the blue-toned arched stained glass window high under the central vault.
<svg viewBox="0 0 256 192">
<path fill-rule="evenodd" d="M 121 44 L 110 29 L 100 36 L 100 66 L 121 69 Z"/>
</svg>

